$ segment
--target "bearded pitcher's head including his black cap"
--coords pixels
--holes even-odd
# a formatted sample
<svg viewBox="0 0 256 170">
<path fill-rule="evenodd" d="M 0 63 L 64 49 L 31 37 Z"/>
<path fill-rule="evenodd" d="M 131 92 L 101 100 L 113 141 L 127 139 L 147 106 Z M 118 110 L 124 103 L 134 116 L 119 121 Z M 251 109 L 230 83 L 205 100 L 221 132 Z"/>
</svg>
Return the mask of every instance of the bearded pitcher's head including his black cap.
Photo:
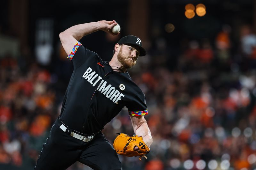
<svg viewBox="0 0 256 170">
<path fill-rule="evenodd" d="M 116 57 L 125 68 L 129 69 L 136 64 L 139 56 L 146 54 L 140 38 L 127 35 L 116 43 L 113 57 Z"/>
</svg>

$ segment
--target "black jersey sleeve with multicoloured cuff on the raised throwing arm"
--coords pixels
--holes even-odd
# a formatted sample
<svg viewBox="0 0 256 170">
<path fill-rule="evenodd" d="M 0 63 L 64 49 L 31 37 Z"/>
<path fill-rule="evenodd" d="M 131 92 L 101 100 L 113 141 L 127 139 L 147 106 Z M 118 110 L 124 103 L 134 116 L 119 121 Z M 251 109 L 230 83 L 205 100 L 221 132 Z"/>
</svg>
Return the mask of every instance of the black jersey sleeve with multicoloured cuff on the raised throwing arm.
<svg viewBox="0 0 256 170">
<path fill-rule="evenodd" d="M 72 61 L 74 70 L 76 70 L 88 59 L 89 56 L 89 50 L 84 48 L 84 46 L 78 41 L 67 58 Z"/>
</svg>

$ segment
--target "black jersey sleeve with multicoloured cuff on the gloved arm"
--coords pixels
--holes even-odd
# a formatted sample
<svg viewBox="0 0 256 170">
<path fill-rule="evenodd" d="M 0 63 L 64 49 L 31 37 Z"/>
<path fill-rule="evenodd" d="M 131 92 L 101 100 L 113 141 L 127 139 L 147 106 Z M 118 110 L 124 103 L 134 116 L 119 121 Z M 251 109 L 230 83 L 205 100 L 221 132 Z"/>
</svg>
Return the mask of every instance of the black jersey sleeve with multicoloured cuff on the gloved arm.
<svg viewBox="0 0 256 170">
<path fill-rule="evenodd" d="M 136 95 L 126 107 L 128 108 L 128 113 L 131 116 L 148 115 L 145 95 L 143 92 L 140 92 L 138 95 Z"/>
</svg>

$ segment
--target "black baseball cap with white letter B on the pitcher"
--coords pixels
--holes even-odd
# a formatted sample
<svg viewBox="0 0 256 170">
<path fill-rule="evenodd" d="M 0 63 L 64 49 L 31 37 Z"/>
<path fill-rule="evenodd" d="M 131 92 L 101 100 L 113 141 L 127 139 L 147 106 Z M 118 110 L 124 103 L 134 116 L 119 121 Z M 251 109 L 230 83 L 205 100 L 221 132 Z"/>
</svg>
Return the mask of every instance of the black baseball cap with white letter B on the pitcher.
<svg viewBox="0 0 256 170">
<path fill-rule="evenodd" d="M 142 47 L 142 42 L 139 37 L 136 37 L 134 35 L 127 35 L 123 38 L 121 38 L 118 42 L 118 44 L 125 44 L 125 45 L 135 45 L 140 48 L 140 55 L 144 56 L 147 54 L 146 50 Z"/>
</svg>

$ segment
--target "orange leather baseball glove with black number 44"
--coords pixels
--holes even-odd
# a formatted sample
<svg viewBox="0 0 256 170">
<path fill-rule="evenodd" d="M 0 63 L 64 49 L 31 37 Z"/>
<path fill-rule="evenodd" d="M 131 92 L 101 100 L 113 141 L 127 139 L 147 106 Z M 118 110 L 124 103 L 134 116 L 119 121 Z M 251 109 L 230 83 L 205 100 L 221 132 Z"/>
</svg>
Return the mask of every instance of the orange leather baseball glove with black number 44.
<svg viewBox="0 0 256 170">
<path fill-rule="evenodd" d="M 132 137 L 124 133 L 119 133 L 114 141 L 113 146 L 116 153 L 128 157 L 139 156 L 140 160 L 141 157 L 147 159 L 145 155 L 150 150 L 150 148 L 148 148 L 148 146 L 142 140 L 142 137 L 138 137 L 137 135 Z M 136 146 L 139 148 L 139 150 L 134 150 Z"/>
</svg>

